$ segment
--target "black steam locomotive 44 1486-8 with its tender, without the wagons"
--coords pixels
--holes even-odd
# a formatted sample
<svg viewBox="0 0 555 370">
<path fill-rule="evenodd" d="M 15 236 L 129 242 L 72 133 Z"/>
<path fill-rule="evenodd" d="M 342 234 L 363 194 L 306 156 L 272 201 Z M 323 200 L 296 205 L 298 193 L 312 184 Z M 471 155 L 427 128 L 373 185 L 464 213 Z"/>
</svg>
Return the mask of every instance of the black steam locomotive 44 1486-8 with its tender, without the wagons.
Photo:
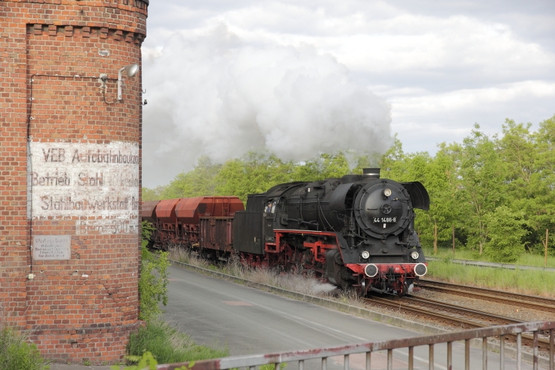
<svg viewBox="0 0 555 370">
<path fill-rule="evenodd" d="M 414 208 L 428 210 L 421 183 L 380 178 L 379 169 L 313 183 L 285 183 L 248 197 L 235 213 L 233 248 L 251 264 L 314 270 L 361 294 L 406 294 L 427 264 Z"/>
</svg>

